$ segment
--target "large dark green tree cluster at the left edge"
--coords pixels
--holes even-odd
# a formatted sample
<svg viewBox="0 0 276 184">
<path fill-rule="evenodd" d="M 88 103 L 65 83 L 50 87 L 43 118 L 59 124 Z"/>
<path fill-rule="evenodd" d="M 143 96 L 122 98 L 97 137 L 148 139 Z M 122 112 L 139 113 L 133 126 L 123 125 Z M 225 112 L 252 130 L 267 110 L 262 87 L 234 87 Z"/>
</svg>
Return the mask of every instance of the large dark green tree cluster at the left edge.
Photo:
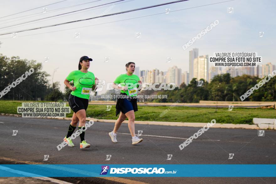
<svg viewBox="0 0 276 184">
<path fill-rule="evenodd" d="M 0 54 L 0 84 L 1 91 L 11 85 L 18 78 L 25 78 L 16 87 L 12 87 L 1 99 L 11 100 L 36 100 L 38 97 L 43 99 L 46 95 L 48 81 L 46 79 L 49 74 L 42 71 L 42 64 L 36 63 L 34 60 L 22 60 L 18 56 L 8 58 Z M 30 68 L 34 69 L 34 73 L 25 77 L 25 72 Z"/>
</svg>

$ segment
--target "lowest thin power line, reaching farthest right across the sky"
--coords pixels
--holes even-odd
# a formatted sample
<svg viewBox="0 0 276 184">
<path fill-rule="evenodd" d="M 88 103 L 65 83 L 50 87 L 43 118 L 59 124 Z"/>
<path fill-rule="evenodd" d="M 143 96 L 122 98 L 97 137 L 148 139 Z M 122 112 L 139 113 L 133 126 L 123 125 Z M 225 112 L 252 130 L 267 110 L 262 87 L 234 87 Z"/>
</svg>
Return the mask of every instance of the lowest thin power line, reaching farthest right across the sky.
<svg viewBox="0 0 276 184">
<path fill-rule="evenodd" d="M 205 4 L 205 5 L 195 6 L 195 7 L 191 7 L 191 8 L 184 8 L 184 9 L 179 9 L 179 10 L 170 11 L 170 13 L 171 13 L 171 12 L 182 11 L 182 10 L 187 10 L 187 9 L 192 9 L 192 8 L 199 8 L 199 7 L 214 5 L 214 4 L 226 3 L 226 2 L 230 2 L 230 1 L 235 1 L 235 0 L 222 1 L 222 2 L 219 2 L 219 3 L 212 3 L 212 4 Z M 82 26 L 82 27 L 69 28 L 69 29 L 61 29 L 61 30 L 49 31 L 49 32 L 45 32 L 45 33 L 28 34 L 28 35 L 24 35 L 24 36 L 20 36 L 20 37 L 33 36 L 33 35 L 46 34 L 46 33 L 54 33 L 54 32 L 66 31 L 66 30 L 78 29 L 78 28 L 86 28 L 86 27 L 90 27 L 90 26 L 103 25 L 103 24 L 109 24 L 109 23 L 114 23 L 114 22 L 121 22 L 121 21 L 125 21 L 125 20 L 131 20 L 131 19 L 136 19 L 136 18 L 149 17 L 149 16 L 153 16 L 153 15 L 160 15 L 160 14 L 164 14 L 164 12 L 162 12 L 162 13 L 156 13 L 156 14 L 151 14 L 151 15 L 145 15 L 145 16 L 141 16 L 141 17 L 135 17 L 135 18 L 127 18 L 127 19 L 123 19 L 123 20 L 116 20 L 116 21 L 106 22 L 106 23 L 101 23 L 101 24 L 93 24 L 93 25 L 89 25 L 89 26 Z M 2 38 L 2 39 L 11 39 L 11 38 L 10 38 L 10 37 L 7 37 L 7 38 Z"/>
</svg>

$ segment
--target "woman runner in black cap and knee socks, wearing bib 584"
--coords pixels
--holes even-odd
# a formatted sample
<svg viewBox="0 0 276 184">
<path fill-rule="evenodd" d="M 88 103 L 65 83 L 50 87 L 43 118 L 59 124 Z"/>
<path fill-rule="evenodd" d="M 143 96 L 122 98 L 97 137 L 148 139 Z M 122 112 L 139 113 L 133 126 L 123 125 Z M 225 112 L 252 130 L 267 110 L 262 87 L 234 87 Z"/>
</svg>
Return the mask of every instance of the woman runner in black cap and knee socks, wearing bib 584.
<svg viewBox="0 0 276 184">
<path fill-rule="evenodd" d="M 96 86 L 98 85 L 98 78 L 95 78 L 94 74 L 88 71 L 88 68 L 90 67 L 90 61 L 92 61 L 92 59 L 88 56 L 82 56 L 79 61 L 79 70 L 72 71 L 64 80 L 64 84 L 72 90 L 68 101 L 69 106 L 74 111 L 68 133 L 63 139 L 70 147 L 74 146 L 71 135 L 76 129 L 77 123 L 79 122 L 78 129 L 81 129 L 82 126 L 85 126 L 89 94 L 91 91 L 95 90 L 95 88 L 97 88 Z M 74 87 L 69 84 L 70 81 L 74 81 Z M 84 140 L 84 129 L 81 130 L 80 148 L 89 148 L 90 144 L 86 143 Z"/>
</svg>

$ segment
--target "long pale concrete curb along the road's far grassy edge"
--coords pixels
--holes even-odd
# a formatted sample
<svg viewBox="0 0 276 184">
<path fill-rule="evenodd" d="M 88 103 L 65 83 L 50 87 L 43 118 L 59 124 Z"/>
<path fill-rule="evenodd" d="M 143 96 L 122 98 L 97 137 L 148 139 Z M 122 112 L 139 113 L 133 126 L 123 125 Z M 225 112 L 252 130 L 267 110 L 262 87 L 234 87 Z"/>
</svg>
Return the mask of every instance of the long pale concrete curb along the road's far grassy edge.
<svg viewBox="0 0 276 184">
<path fill-rule="evenodd" d="M 18 114 L 5 114 L 1 115 L 8 116 L 18 116 Z M 59 117 L 49 117 L 48 119 L 62 119 L 62 120 L 71 120 L 72 118 L 59 118 Z M 96 118 L 86 118 L 87 121 L 93 120 L 94 122 L 105 122 L 105 123 L 115 123 L 115 119 L 96 119 Z M 128 123 L 127 120 L 123 123 Z M 135 121 L 135 124 L 150 124 L 150 125 L 165 125 L 165 126 L 184 126 L 184 127 L 204 127 L 207 123 L 183 123 L 183 122 L 166 122 L 166 121 Z M 214 124 L 212 128 L 226 128 L 226 129 L 269 129 L 269 127 L 259 127 L 258 125 L 251 124 Z"/>
</svg>

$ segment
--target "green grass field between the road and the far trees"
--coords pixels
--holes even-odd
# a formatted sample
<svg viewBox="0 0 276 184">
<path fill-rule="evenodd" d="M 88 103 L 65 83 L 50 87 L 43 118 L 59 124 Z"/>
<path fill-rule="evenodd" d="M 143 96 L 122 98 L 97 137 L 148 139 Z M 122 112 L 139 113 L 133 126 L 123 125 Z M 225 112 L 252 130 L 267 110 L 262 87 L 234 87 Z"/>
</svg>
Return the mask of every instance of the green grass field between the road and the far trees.
<svg viewBox="0 0 276 184">
<path fill-rule="evenodd" d="M 0 113 L 18 114 L 17 107 L 21 106 L 22 102 L 0 100 Z M 207 123 L 215 119 L 217 123 L 252 124 L 253 118 L 276 118 L 276 110 L 273 108 L 233 108 L 232 111 L 228 111 L 228 108 L 218 108 L 216 112 L 215 108 L 196 107 L 173 107 L 160 117 L 159 115 L 166 109 L 169 107 L 138 106 L 135 120 Z M 115 110 L 115 105 L 110 111 L 106 111 L 106 105 L 89 105 L 86 116 L 98 119 L 117 119 Z M 72 117 L 72 112 L 71 110 L 66 117 Z"/>
</svg>

